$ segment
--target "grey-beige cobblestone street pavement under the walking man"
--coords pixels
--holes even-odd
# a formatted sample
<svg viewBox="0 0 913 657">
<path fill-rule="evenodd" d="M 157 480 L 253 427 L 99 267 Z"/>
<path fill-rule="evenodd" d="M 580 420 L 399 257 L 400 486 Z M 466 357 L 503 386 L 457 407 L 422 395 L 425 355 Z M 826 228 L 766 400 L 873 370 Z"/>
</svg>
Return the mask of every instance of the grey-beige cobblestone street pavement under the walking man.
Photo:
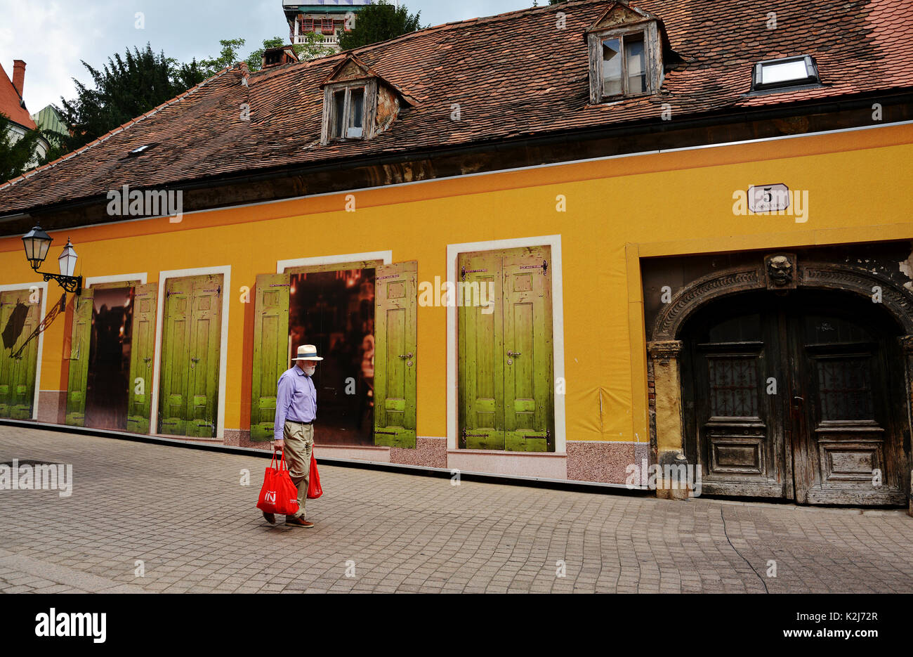
<svg viewBox="0 0 913 657">
<path fill-rule="evenodd" d="M 300 529 L 255 508 L 259 458 L 0 427 L 0 461 L 14 458 L 72 463 L 74 485 L 69 497 L 0 491 L 5 593 L 913 590 L 903 511 L 453 486 L 324 464 L 316 527 Z"/>
</svg>

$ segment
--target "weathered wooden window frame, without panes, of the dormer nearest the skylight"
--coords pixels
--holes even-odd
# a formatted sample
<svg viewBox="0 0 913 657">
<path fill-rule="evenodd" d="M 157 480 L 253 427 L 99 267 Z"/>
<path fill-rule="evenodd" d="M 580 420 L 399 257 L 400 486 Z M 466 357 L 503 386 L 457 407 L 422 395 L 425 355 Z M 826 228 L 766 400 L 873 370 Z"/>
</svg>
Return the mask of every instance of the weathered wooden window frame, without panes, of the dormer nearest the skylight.
<svg viewBox="0 0 913 657">
<path fill-rule="evenodd" d="M 646 90 L 637 93 L 628 92 L 627 57 L 625 56 L 624 37 L 643 35 L 644 64 L 646 69 Z M 621 40 L 622 57 L 622 93 L 606 95 L 603 92 L 603 40 L 618 38 Z M 638 23 L 635 26 L 617 27 L 608 30 L 591 32 L 588 37 L 590 48 L 590 104 L 600 105 L 605 102 L 621 101 L 626 98 L 651 96 L 659 91 L 663 80 L 662 49 L 656 21 Z"/>
</svg>

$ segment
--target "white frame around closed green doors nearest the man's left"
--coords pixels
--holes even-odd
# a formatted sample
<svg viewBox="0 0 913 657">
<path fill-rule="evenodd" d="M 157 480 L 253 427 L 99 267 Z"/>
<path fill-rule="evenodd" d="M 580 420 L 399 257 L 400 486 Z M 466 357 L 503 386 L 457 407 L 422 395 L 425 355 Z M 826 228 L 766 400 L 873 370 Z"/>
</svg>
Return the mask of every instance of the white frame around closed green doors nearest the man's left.
<svg viewBox="0 0 913 657">
<path fill-rule="evenodd" d="M 228 298 L 231 296 L 231 265 L 222 267 L 200 267 L 190 270 L 166 270 L 159 272 L 159 300 L 155 322 L 155 357 L 152 362 L 152 397 L 149 400 L 149 432 L 159 429 L 159 377 L 162 371 L 162 329 L 164 326 L 165 288 L 168 279 L 182 279 L 202 274 L 222 274 L 222 327 L 219 339 L 219 398 L 215 409 L 215 438 L 225 440 L 226 430 L 226 368 L 228 366 Z M 180 438 L 176 436 L 175 438 Z"/>
</svg>

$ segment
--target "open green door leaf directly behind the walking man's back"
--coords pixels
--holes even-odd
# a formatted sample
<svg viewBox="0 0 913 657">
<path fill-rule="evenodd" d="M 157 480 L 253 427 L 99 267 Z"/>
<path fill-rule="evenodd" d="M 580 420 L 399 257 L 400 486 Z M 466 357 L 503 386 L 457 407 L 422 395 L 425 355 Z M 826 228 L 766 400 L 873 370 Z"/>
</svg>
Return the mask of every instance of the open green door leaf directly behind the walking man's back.
<svg viewBox="0 0 913 657">
<path fill-rule="evenodd" d="M 289 368 L 289 274 L 257 276 L 250 440 L 273 439 L 279 376 Z"/>
</svg>

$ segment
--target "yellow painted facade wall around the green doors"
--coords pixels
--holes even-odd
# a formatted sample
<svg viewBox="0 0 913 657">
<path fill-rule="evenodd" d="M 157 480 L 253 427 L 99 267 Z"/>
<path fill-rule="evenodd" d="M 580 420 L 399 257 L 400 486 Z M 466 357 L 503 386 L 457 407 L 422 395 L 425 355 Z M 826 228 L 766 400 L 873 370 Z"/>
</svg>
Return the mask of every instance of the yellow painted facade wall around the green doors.
<svg viewBox="0 0 913 657">
<path fill-rule="evenodd" d="M 642 270 L 679 256 L 892 243 L 905 245 L 907 269 L 903 260 L 895 265 L 907 281 L 900 281 L 901 293 L 910 292 L 913 219 L 905 200 L 913 189 L 911 158 L 913 125 L 873 122 L 845 131 L 303 196 L 185 213 L 180 220 L 72 228 L 50 233 L 51 253 L 70 238 L 89 290 L 158 283 L 152 299 L 160 321 L 149 365 L 154 367 L 148 391 L 152 434 L 167 433 L 156 426 L 163 416 L 154 411 L 163 405 L 161 356 L 168 338 L 161 318 L 168 281 L 218 277 L 211 440 L 264 445 L 251 443 L 249 433 L 257 276 L 295 268 L 333 270 L 334 263 L 414 261 L 421 288 L 436 279 L 458 281 L 460 254 L 547 248 L 547 271 L 535 275 L 547 279 L 551 294 L 549 450 L 461 447 L 459 311 L 418 303 L 416 351 L 409 361 L 415 367 L 415 447 L 344 441 L 321 446 L 319 395 L 316 453 L 640 486 L 641 479 L 631 479 L 632 466 L 662 463 L 664 454 L 686 451 L 681 407 L 693 394 L 682 387 L 675 358 L 670 372 L 662 355 L 655 353 L 652 360 L 648 355 L 654 335 L 645 301 L 656 300 L 645 300 L 655 290 L 645 285 Z M 779 214 L 740 207 L 740 193 L 773 184 L 786 185 L 798 204 Z M 865 269 L 865 263 L 855 264 Z M 656 293 L 668 297 L 660 303 L 674 301 L 685 282 L 670 280 L 666 291 L 659 285 Z M 42 282 L 29 269 L 18 236 L 0 239 L 0 291 L 32 287 L 41 292 L 44 317 L 59 298 L 56 283 Z M 66 315 L 40 335 L 31 419 L 65 421 L 73 322 L 70 298 Z M 380 357 L 375 355 L 375 367 Z M 908 380 L 904 386 L 909 403 L 913 390 Z M 909 431 L 908 409 L 904 415 L 901 434 Z M 897 485 L 908 488 L 906 435 L 906 451 L 897 459 L 907 461 L 890 467 L 906 472 Z"/>
</svg>

